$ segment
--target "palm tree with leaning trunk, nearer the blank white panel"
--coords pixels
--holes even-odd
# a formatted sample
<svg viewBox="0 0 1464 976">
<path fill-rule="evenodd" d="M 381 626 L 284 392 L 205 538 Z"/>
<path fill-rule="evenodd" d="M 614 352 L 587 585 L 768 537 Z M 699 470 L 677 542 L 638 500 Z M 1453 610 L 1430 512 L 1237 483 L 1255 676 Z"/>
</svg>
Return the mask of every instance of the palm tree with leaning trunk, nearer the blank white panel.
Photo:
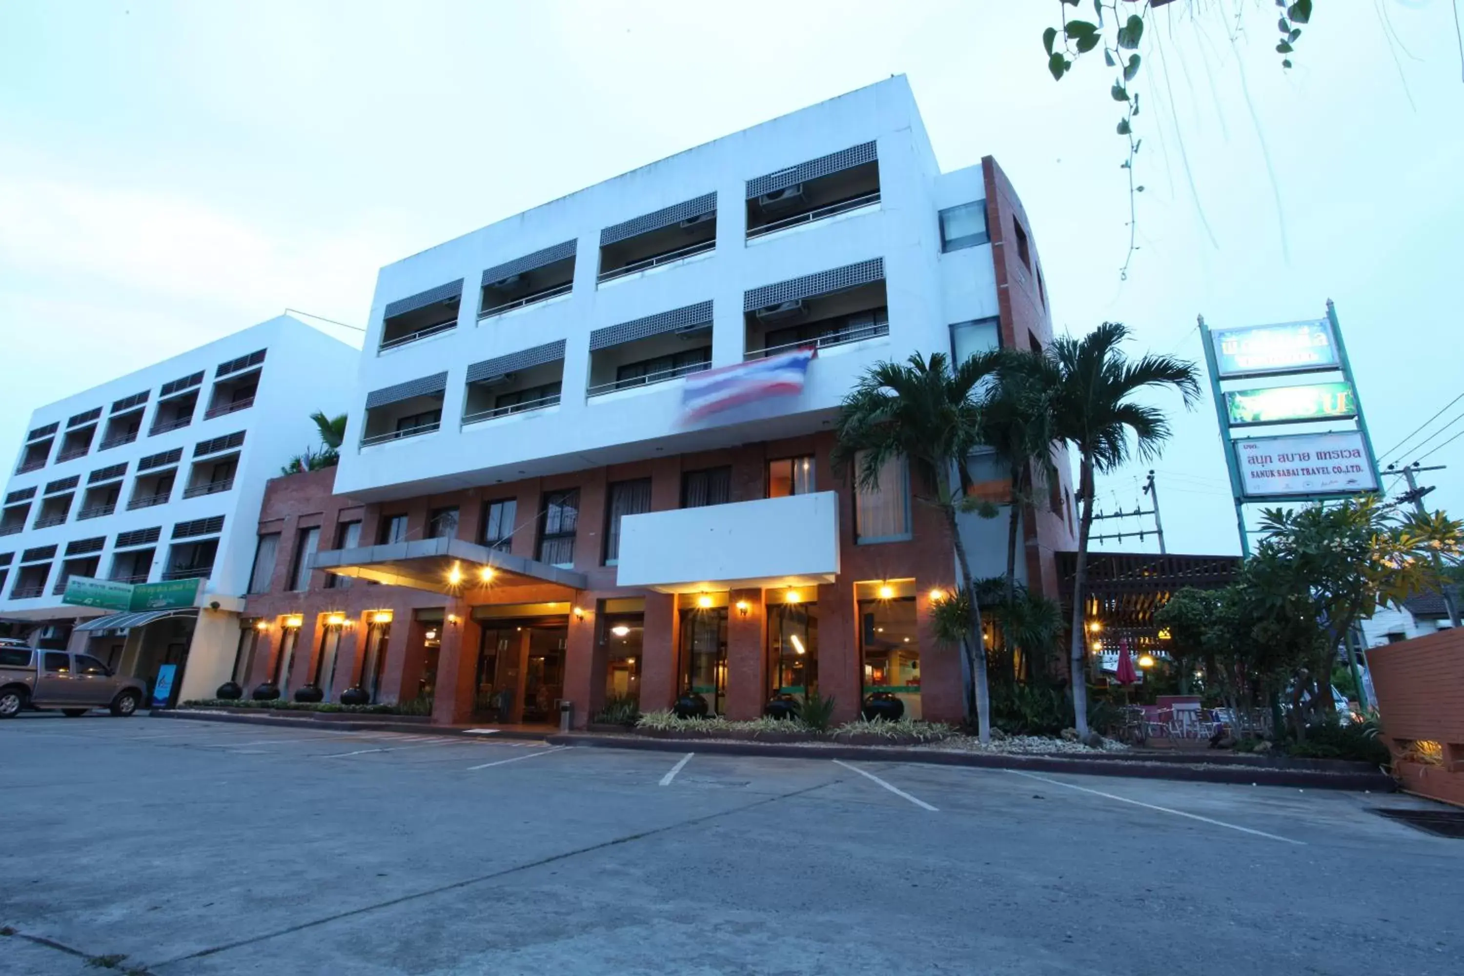
<svg viewBox="0 0 1464 976">
<path fill-rule="evenodd" d="M 975 577 L 956 515 L 975 502 L 968 492 L 966 458 L 979 443 L 981 386 L 996 375 L 998 361 L 998 353 L 981 353 L 952 369 L 941 353 L 931 353 L 928 359 L 916 353 L 905 363 L 875 363 L 843 399 L 833 451 L 834 468 L 854 468 L 856 484 L 864 489 L 878 489 L 880 468 L 893 458 L 905 458 L 916 486 L 915 498 L 935 506 L 946 518 L 969 598 L 966 705 L 971 707 L 974 692 L 982 742 L 991 737 L 987 656 Z M 952 471 L 957 473 L 955 486 Z"/>
</svg>

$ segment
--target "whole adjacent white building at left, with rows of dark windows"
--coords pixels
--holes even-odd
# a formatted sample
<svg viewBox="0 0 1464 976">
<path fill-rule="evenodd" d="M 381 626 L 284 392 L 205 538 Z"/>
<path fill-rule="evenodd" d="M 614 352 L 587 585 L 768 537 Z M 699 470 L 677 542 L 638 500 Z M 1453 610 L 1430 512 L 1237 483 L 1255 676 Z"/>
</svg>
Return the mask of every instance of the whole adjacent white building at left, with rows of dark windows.
<svg viewBox="0 0 1464 976">
<path fill-rule="evenodd" d="M 228 676 L 265 481 L 344 413 L 357 351 L 280 316 L 31 414 L 0 511 L 0 620 L 132 673 L 187 663 L 182 694 Z M 72 577 L 201 579 L 196 606 L 94 620 Z M 155 639 L 154 639 L 155 638 Z"/>
</svg>

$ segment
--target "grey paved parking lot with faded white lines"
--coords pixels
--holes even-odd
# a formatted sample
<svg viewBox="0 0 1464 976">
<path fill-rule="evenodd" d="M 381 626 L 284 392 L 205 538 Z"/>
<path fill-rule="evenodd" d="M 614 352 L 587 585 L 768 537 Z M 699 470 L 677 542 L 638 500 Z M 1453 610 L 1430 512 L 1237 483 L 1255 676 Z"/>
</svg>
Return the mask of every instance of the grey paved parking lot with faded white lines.
<svg viewBox="0 0 1464 976">
<path fill-rule="evenodd" d="M 4 973 L 1464 966 L 1404 796 L 101 716 L 0 773 Z"/>
</svg>

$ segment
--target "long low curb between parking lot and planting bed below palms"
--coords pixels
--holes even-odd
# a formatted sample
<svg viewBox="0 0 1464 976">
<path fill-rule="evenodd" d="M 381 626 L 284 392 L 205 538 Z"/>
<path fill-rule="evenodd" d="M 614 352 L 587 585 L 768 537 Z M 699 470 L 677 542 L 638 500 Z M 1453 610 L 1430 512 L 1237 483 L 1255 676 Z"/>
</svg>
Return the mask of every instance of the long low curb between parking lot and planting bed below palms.
<svg viewBox="0 0 1464 976">
<path fill-rule="evenodd" d="M 918 762 L 924 765 L 960 765 L 985 770 L 1020 770 L 1031 773 L 1075 773 L 1079 776 L 1113 776 L 1139 780 L 1179 780 L 1186 783 L 1231 783 L 1240 786 L 1294 786 L 1323 790 L 1372 790 L 1392 793 L 1398 787 L 1392 777 L 1381 771 L 1282 770 L 1275 767 L 1177 765 L 1145 759 L 1078 759 L 1054 755 L 984 755 L 979 752 L 933 752 L 897 746 L 789 746 L 726 742 L 717 739 L 650 739 L 640 736 L 597 736 L 584 733 L 552 733 L 552 745 L 586 746 L 591 749 L 644 749 L 651 752 L 704 752 L 710 755 L 779 757 L 788 759 L 843 759 L 864 762 Z"/>
</svg>

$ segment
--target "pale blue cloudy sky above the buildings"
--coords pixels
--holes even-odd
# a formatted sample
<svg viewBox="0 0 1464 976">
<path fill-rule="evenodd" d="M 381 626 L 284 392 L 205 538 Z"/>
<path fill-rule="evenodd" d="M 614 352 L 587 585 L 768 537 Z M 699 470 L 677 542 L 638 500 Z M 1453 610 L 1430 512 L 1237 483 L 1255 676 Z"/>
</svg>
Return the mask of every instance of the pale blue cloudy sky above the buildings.
<svg viewBox="0 0 1464 976">
<path fill-rule="evenodd" d="M 287 306 L 365 325 L 385 263 L 905 73 L 941 168 L 991 154 L 1016 184 L 1058 331 L 1123 320 L 1135 353 L 1199 360 L 1196 313 L 1287 322 L 1331 297 L 1375 446 L 1413 461 L 1464 429 L 1388 454 L 1464 392 L 1451 3 L 1318 4 L 1290 73 L 1271 0 L 1247 4 L 1234 44 L 1215 19 L 1149 32 L 1120 282 L 1111 72 L 1053 82 L 1054 3 L 3 0 L 0 457 L 40 404 Z M 1214 408 L 1167 402 L 1170 550 L 1239 552 Z M 1429 500 L 1464 514 L 1464 439 L 1439 462 Z M 1099 503 L 1132 508 L 1146 467 Z"/>
</svg>

